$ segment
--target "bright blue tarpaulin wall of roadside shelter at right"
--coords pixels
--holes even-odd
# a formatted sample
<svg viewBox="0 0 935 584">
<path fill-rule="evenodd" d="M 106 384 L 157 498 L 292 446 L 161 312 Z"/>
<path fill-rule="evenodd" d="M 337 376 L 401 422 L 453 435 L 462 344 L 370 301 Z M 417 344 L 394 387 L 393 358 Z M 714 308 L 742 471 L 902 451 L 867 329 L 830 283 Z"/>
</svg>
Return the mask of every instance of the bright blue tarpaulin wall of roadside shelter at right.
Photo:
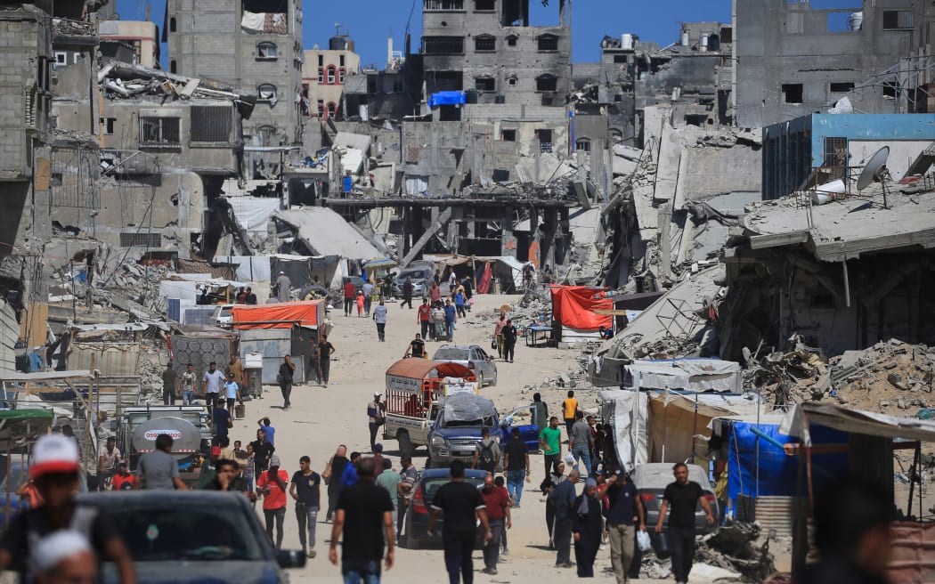
<svg viewBox="0 0 935 584">
<path fill-rule="evenodd" d="M 758 429 L 767 438 L 757 436 Z M 756 439 L 759 437 L 759 481 L 757 488 Z M 771 439 L 771 440 L 770 440 Z M 737 501 L 739 494 L 756 496 L 795 496 L 798 489 L 798 456 L 789 456 L 772 442 L 781 444 L 796 443 L 798 437 L 779 434 L 778 424 L 759 424 L 733 421 L 728 434 L 727 449 L 727 496 Z M 847 444 L 846 433 L 812 426 L 813 444 Z M 841 476 L 847 473 L 847 453 L 813 454 L 813 483 L 816 491 L 827 477 Z"/>
</svg>

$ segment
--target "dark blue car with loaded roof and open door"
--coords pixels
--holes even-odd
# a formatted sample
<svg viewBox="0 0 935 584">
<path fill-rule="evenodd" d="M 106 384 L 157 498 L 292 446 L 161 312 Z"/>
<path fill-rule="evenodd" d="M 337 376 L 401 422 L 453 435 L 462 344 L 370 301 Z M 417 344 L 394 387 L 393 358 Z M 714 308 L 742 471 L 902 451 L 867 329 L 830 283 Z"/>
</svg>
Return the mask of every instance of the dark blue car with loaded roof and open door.
<svg viewBox="0 0 935 584">
<path fill-rule="evenodd" d="M 494 403 L 489 399 L 468 392 L 449 395 L 441 402 L 438 416 L 428 432 L 426 466 L 439 468 L 448 466 L 453 461 L 461 461 L 469 466 L 474 461 L 474 452 L 481 442 L 484 428 L 487 428 L 492 436 L 499 435 L 501 447 L 507 443 L 511 430 L 517 428 L 527 449 L 539 449 L 538 426 L 510 424 L 512 420 L 517 419 L 518 413 L 527 407 L 523 406 L 511 412 L 501 422 Z M 502 463 L 501 458 L 500 464 Z"/>
</svg>

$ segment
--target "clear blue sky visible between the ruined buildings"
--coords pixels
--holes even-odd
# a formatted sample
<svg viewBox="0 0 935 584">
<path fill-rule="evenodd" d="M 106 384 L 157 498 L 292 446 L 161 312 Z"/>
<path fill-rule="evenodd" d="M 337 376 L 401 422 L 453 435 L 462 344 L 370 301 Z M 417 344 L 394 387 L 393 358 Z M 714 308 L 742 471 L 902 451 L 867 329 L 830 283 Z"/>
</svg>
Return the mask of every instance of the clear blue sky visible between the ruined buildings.
<svg viewBox="0 0 935 584">
<path fill-rule="evenodd" d="M 145 18 L 146 4 L 151 5 L 152 21 L 161 33 L 165 0 L 117 0 L 117 11 L 124 21 L 139 21 Z M 377 63 L 382 68 L 388 36 L 393 35 L 396 50 L 403 48 L 411 7 L 411 0 L 357 0 L 348 5 L 305 0 L 302 41 L 306 49 L 316 43 L 326 48 L 328 38 L 335 34 L 335 23 L 339 22 L 350 32 L 361 63 Z M 548 7 L 542 6 L 542 0 L 530 0 L 530 17 L 533 25 L 557 24 L 558 0 L 550 0 Z M 604 35 L 631 33 L 642 40 L 668 45 L 678 38 L 683 21 L 729 22 L 730 0 L 578 0 L 573 3 L 572 12 L 572 60 L 597 62 Z M 419 48 L 421 30 L 422 0 L 415 0 L 410 22 L 412 50 Z M 163 52 L 165 63 L 165 47 Z"/>
</svg>

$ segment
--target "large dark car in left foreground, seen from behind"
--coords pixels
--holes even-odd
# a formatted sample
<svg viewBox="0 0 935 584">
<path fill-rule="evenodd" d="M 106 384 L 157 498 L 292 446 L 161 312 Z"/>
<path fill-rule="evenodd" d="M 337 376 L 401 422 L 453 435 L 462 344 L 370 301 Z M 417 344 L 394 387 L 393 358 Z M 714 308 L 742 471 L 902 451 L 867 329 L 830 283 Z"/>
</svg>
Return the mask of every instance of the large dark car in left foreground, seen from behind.
<svg viewBox="0 0 935 584">
<path fill-rule="evenodd" d="M 82 494 L 104 508 L 130 548 L 137 580 L 147 582 L 286 582 L 282 568 L 305 555 L 275 550 L 247 498 L 221 491 L 111 491 Z M 105 563 L 102 580 L 118 582 Z"/>
</svg>

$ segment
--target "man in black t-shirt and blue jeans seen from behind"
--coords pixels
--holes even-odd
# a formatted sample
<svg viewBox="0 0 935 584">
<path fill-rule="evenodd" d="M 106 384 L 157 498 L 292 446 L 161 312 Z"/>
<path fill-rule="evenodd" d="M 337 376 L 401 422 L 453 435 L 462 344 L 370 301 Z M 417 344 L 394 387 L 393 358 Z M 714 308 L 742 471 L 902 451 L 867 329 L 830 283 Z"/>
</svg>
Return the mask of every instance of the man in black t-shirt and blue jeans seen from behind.
<svg viewBox="0 0 935 584">
<path fill-rule="evenodd" d="M 357 465 L 357 482 L 341 489 L 338 496 L 328 559 L 338 565 L 338 539 L 343 533 L 341 574 L 344 581 L 379 582 L 384 541 L 386 569 L 393 567 L 396 543 L 393 501 L 386 489 L 374 484 L 373 475 L 373 459 L 361 459 Z"/>
</svg>

